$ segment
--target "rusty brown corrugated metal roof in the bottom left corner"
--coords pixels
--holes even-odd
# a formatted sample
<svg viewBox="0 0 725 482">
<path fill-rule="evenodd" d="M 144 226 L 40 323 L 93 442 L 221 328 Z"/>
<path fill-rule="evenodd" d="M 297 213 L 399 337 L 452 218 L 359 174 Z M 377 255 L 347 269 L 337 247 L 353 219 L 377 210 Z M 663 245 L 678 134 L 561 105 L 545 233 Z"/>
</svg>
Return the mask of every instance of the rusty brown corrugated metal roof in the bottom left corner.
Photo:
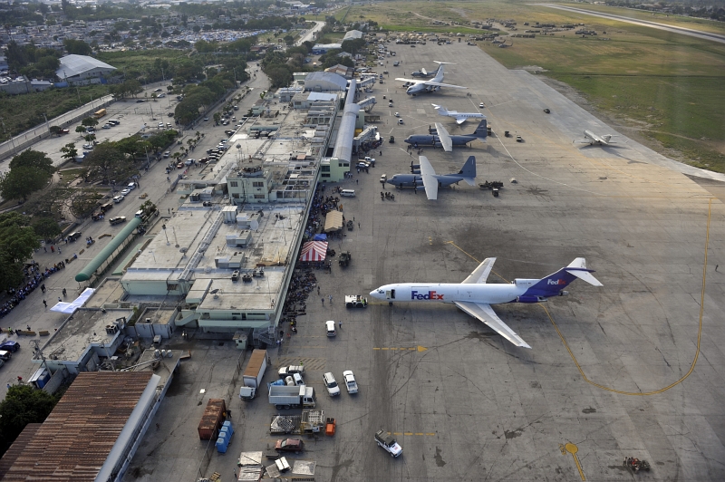
<svg viewBox="0 0 725 482">
<path fill-rule="evenodd" d="M 0 461 L 0 479 L 94 480 L 152 376 L 150 371 L 79 374 L 43 424 L 28 425 L 14 441 Z"/>
</svg>

